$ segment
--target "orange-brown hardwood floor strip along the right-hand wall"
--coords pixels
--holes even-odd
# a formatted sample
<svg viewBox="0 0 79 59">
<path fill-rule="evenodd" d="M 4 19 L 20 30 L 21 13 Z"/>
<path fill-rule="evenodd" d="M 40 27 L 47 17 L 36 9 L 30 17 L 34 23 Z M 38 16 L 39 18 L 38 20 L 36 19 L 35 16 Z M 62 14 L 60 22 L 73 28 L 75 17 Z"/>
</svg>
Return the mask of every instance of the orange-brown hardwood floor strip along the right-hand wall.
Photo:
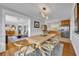
<svg viewBox="0 0 79 59">
<path fill-rule="evenodd" d="M 65 40 L 62 39 L 60 42 L 64 44 L 62 56 L 76 56 L 73 46 L 68 38 L 65 38 Z"/>
</svg>

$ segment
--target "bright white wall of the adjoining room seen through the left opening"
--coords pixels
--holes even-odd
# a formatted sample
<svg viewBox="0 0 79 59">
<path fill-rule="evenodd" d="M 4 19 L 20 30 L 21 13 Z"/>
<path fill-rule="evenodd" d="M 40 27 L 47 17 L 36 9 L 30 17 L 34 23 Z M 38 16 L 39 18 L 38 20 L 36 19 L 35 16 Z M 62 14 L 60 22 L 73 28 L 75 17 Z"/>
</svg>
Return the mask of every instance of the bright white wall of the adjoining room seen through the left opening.
<svg viewBox="0 0 79 59">
<path fill-rule="evenodd" d="M 18 19 L 19 18 L 19 19 Z M 16 35 L 18 35 L 18 26 L 22 26 L 22 29 L 24 29 L 24 26 L 26 26 L 26 31 L 28 30 L 28 18 L 20 18 L 17 16 L 12 15 L 5 15 L 6 24 L 8 25 L 15 25 L 16 27 Z M 21 31 L 22 34 L 24 34 L 24 30 Z"/>
</svg>

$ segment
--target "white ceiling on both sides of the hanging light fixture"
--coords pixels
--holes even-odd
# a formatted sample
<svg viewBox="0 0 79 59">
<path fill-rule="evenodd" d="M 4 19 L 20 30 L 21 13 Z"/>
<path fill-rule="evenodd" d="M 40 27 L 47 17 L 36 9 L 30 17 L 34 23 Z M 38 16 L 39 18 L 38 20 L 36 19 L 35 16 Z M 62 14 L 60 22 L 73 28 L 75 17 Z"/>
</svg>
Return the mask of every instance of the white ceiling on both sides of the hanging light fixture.
<svg viewBox="0 0 79 59">
<path fill-rule="evenodd" d="M 16 12 L 42 19 L 38 8 L 42 3 L 4 3 L 0 5 Z M 45 5 L 50 9 L 48 20 L 65 19 L 71 16 L 72 3 L 47 3 Z"/>
</svg>

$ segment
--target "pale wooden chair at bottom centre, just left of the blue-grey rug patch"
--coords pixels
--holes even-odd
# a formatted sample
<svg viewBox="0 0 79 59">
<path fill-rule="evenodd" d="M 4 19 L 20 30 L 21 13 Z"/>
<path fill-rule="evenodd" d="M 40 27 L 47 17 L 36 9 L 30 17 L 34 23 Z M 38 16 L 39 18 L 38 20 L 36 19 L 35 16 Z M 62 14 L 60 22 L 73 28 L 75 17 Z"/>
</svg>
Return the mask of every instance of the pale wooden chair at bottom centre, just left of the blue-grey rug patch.
<svg viewBox="0 0 79 59">
<path fill-rule="evenodd" d="M 40 44 L 40 46 L 38 48 L 40 49 L 42 56 L 51 56 L 51 53 L 52 53 L 51 46 L 52 45 L 49 44 L 48 42 L 44 42 L 44 43 Z"/>
</svg>

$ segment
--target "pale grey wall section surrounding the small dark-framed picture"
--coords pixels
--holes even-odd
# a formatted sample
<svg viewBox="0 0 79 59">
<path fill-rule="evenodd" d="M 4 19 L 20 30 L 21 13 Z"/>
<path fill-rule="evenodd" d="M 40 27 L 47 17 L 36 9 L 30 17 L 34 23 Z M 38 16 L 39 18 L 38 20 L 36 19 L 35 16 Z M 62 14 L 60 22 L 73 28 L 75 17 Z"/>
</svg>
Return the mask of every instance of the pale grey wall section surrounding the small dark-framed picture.
<svg viewBox="0 0 79 59">
<path fill-rule="evenodd" d="M 34 21 L 40 22 L 40 28 L 34 28 Z M 41 25 L 44 24 L 44 19 L 36 19 L 30 17 L 30 36 L 42 34 Z"/>
</svg>

